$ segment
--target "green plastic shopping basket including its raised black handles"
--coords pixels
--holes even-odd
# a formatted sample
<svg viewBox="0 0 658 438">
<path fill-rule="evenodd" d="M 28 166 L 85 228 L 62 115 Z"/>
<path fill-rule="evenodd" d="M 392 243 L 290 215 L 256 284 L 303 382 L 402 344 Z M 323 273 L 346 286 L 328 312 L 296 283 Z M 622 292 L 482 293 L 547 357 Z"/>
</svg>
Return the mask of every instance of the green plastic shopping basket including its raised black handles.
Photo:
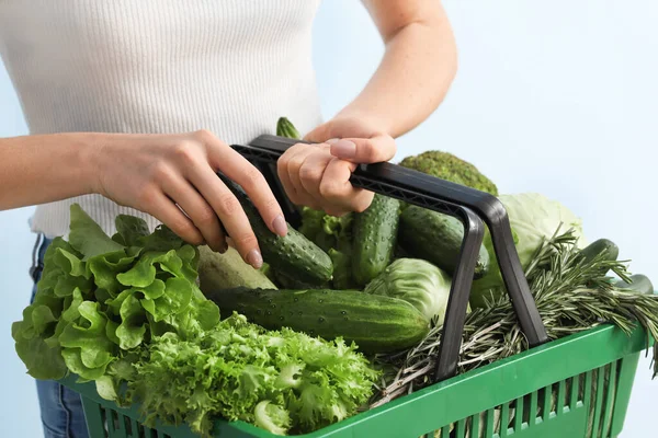
<svg viewBox="0 0 658 438">
<path fill-rule="evenodd" d="M 293 224 L 298 222 L 298 214 L 285 197 L 275 163 L 295 142 L 261 136 L 249 146 L 234 146 L 265 175 Z M 547 342 L 507 214 L 496 197 L 389 163 L 361 165 L 351 181 L 355 186 L 458 218 L 464 223 L 464 242 L 436 360 L 438 383 L 304 437 L 606 438 L 621 433 L 639 354 L 647 347 L 647 335 L 640 327 L 628 336 L 612 325 L 602 325 Z M 531 348 L 456 376 L 485 223 Z M 92 438 L 197 437 L 185 425 L 145 426 L 138 405 L 118 407 L 100 397 L 93 382 L 78 383 L 76 376 L 60 382 L 80 393 Z M 274 437 L 252 425 L 222 419 L 213 433 L 216 437 Z"/>
</svg>

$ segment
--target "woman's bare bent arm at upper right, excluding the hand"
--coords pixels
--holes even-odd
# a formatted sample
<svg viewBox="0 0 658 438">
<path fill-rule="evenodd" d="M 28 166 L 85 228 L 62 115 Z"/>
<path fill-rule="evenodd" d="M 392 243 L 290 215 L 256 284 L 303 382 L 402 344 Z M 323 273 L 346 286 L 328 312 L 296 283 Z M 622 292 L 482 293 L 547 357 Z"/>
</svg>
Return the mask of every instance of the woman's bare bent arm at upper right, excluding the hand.
<svg viewBox="0 0 658 438">
<path fill-rule="evenodd" d="M 439 0 L 363 0 L 386 45 L 365 89 L 338 115 L 362 117 L 396 138 L 443 101 L 457 70 L 452 27 Z"/>
</svg>

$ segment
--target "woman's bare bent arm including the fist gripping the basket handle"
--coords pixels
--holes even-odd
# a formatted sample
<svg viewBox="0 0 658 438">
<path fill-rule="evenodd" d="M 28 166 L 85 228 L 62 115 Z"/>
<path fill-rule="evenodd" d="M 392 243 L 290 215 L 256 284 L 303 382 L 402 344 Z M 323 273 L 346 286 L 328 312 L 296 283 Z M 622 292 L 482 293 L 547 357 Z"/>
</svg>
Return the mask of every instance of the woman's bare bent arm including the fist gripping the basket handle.
<svg viewBox="0 0 658 438">
<path fill-rule="evenodd" d="M 394 138 L 424 120 L 456 72 L 456 48 L 439 0 L 363 0 L 386 44 L 364 90 L 279 160 L 291 200 L 330 215 L 363 211 L 373 194 L 349 182 L 355 163 L 390 160 Z"/>
</svg>

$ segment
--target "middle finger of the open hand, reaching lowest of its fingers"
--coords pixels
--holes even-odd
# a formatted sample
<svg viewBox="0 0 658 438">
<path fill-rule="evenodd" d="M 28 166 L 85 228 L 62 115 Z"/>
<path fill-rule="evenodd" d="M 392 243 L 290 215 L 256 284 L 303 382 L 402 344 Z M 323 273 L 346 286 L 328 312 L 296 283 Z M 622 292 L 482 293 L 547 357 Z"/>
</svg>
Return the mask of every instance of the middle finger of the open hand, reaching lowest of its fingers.
<svg viewBox="0 0 658 438">
<path fill-rule="evenodd" d="M 190 181 L 217 215 L 245 262 L 257 269 L 260 268 L 263 258 L 258 240 L 242 206 L 232 192 L 207 165 L 190 175 Z"/>
</svg>

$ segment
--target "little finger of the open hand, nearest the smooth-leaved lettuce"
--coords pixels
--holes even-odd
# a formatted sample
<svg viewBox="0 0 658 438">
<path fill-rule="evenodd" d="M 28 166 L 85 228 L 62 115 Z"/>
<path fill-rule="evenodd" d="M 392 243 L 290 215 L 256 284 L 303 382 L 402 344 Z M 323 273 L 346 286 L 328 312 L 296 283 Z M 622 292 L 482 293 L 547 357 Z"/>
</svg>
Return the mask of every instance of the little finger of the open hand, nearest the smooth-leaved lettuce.
<svg viewBox="0 0 658 438">
<path fill-rule="evenodd" d="M 185 242 L 193 245 L 204 244 L 204 238 L 175 204 L 160 189 L 146 189 L 141 194 L 140 209 L 164 223 Z"/>
</svg>

